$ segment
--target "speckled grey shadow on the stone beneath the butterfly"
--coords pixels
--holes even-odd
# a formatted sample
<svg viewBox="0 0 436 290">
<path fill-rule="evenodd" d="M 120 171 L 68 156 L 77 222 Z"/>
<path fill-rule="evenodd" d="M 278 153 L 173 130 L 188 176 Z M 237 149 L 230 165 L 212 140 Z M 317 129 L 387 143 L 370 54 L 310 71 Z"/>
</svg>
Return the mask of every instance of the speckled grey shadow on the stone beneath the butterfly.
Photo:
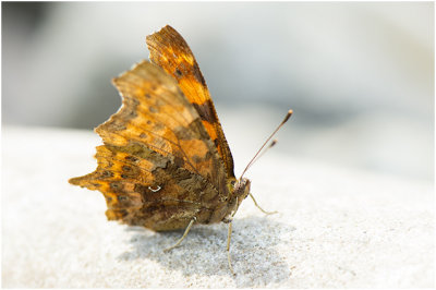
<svg viewBox="0 0 436 290">
<path fill-rule="evenodd" d="M 231 237 L 231 258 L 237 273 L 237 287 L 265 287 L 275 285 L 291 276 L 290 266 L 286 263 L 284 253 L 290 244 L 289 233 L 294 227 L 274 221 L 270 217 L 246 217 L 233 221 Z M 171 246 L 182 231 L 152 232 L 130 227 L 133 232 L 130 251 L 118 256 L 120 261 L 155 261 L 162 267 L 181 271 L 184 276 L 230 276 L 227 259 L 226 223 L 194 226 L 183 242 L 170 252 L 162 250 Z"/>
</svg>

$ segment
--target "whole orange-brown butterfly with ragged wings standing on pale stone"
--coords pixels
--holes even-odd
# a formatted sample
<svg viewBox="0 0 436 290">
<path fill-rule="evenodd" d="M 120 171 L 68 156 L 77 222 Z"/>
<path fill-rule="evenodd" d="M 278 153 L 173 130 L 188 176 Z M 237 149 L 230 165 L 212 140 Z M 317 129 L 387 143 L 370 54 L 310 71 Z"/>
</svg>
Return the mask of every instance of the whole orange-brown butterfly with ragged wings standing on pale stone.
<svg viewBox="0 0 436 290">
<path fill-rule="evenodd" d="M 155 231 L 185 229 L 166 250 L 178 246 L 194 223 L 228 222 L 233 273 L 231 220 L 252 196 L 251 181 L 234 176 L 209 90 L 183 37 L 167 25 L 146 44 L 150 61 L 112 80 L 122 106 L 95 129 L 104 143 L 96 147 L 97 169 L 69 182 L 100 191 L 109 220 Z"/>
</svg>

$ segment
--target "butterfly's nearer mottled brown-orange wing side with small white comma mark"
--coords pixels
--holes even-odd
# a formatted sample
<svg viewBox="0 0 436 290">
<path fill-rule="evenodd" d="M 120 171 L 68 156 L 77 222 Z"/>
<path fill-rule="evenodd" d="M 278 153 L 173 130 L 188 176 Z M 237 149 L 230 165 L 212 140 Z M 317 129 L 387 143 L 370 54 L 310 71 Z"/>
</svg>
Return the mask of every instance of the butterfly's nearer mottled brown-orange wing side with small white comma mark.
<svg viewBox="0 0 436 290">
<path fill-rule="evenodd" d="M 96 132 L 97 169 L 72 184 L 104 193 L 109 219 L 155 230 L 218 221 L 226 169 L 174 78 L 143 61 L 113 80 L 122 107 Z M 215 212 L 214 212 L 215 210 Z"/>
</svg>

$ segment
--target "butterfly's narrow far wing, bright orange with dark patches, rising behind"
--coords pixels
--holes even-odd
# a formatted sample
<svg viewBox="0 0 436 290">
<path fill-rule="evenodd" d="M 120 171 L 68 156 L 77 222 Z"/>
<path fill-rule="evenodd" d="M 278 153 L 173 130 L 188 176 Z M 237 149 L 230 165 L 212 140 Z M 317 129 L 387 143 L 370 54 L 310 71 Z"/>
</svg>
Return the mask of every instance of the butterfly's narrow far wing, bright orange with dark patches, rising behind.
<svg viewBox="0 0 436 290">
<path fill-rule="evenodd" d="M 161 67 L 178 82 L 183 94 L 202 118 L 208 135 L 221 156 L 229 179 L 234 179 L 233 158 L 198 64 L 183 37 L 167 25 L 147 36 L 150 61 Z"/>
</svg>

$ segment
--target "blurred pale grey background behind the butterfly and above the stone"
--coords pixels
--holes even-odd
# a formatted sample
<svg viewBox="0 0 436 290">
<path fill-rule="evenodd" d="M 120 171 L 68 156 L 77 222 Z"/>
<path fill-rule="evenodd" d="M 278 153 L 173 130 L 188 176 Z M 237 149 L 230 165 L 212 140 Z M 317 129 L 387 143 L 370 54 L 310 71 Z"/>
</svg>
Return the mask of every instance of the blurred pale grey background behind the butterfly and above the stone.
<svg viewBox="0 0 436 290">
<path fill-rule="evenodd" d="M 433 2 L 2 2 L 2 124 L 98 125 L 120 106 L 111 77 L 166 24 L 237 169 L 292 108 L 274 152 L 433 180 Z"/>
</svg>

